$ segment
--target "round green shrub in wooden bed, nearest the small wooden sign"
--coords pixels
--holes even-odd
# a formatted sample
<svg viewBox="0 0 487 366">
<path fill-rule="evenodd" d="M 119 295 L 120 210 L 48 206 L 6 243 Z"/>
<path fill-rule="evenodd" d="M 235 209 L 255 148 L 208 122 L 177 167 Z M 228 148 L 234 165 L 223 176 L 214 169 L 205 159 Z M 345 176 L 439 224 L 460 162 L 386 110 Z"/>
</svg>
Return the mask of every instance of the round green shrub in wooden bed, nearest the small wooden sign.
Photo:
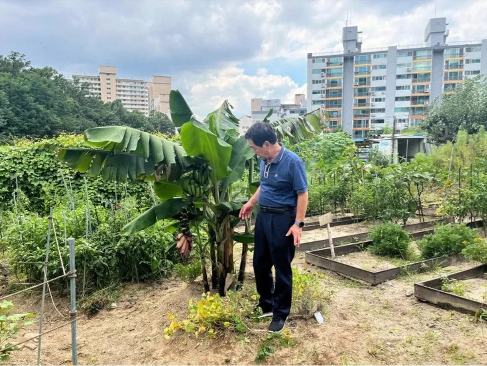
<svg viewBox="0 0 487 366">
<path fill-rule="evenodd" d="M 409 235 L 394 222 L 374 226 L 369 240 L 372 240 L 372 245 L 368 249 L 376 255 L 403 259 L 408 255 Z"/>
</svg>

